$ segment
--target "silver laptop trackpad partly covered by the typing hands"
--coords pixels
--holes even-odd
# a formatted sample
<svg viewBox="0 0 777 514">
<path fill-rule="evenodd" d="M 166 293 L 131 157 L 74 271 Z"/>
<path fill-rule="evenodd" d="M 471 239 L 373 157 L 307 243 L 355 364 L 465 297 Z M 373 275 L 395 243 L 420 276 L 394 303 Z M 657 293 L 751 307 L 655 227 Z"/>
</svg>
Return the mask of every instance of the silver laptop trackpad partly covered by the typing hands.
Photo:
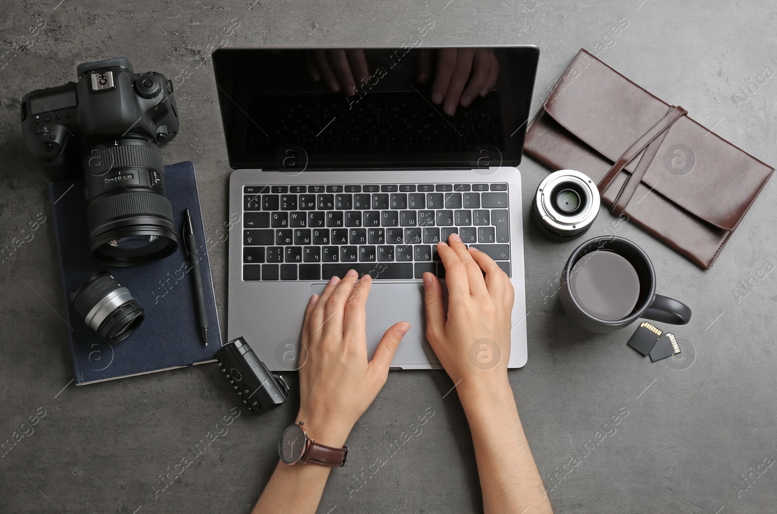
<svg viewBox="0 0 777 514">
<path fill-rule="evenodd" d="M 314 284 L 311 293 L 321 295 L 326 284 Z M 427 368 L 439 365 L 426 334 L 426 313 L 423 306 L 423 284 L 372 283 L 367 299 L 367 356 L 372 358 L 378 342 L 394 323 L 410 323 L 405 337 L 394 355 L 392 367 Z"/>
</svg>

